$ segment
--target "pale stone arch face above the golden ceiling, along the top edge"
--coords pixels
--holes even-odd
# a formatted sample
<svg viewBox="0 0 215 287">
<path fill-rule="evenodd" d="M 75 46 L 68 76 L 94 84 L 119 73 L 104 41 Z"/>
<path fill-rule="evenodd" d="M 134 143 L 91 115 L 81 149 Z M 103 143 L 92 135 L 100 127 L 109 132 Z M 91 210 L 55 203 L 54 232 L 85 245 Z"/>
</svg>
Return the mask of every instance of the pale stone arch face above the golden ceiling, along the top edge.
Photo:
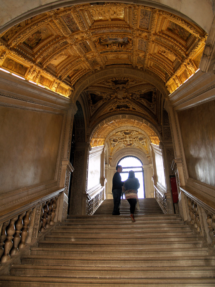
<svg viewBox="0 0 215 287">
<path fill-rule="evenodd" d="M 51 1 L 47 0 L 46 4 L 41 5 L 41 0 L 34 0 L 34 1 L 25 1 L 19 0 L 14 1 L 13 5 L 8 5 L 6 1 L 1 3 L 1 12 L 0 12 L 0 19 L 1 19 L 1 28 L 0 33 L 4 32 L 5 30 L 9 29 L 13 25 L 28 19 L 30 17 L 36 16 L 40 13 L 61 8 L 67 7 L 71 5 L 77 4 L 84 4 L 89 3 L 87 0 L 56 0 Z M 97 3 L 103 2 L 103 0 L 96 1 Z M 110 1 L 115 2 L 115 1 Z M 124 2 L 133 4 L 133 0 L 126 0 L 126 1 L 116 1 L 116 2 Z M 173 0 L 167 1 L 166 0 L 137 0 L 135 4 L 139 5 L 148 5 L 151 7 L 155 7 L 158 9 L 162 9 L 168 11 L 170 13 L 174 13 L 177 16 L 181 16 L 187 20 L 195 22 L 197 25 L 202 27 L 207 33 L 210 30 L 211 23 L 214 18 L 214 2 L 213 1 L 205 1 L 202 0 L 191 0 L 189 1 L 189 6 L 187 5 L 187 1 L 185 0 Z M 11 7 L 12 6 L 12 7 Z M 207 15 L 207 17 L 202 17 L 202 15 Z"/>
</svg>

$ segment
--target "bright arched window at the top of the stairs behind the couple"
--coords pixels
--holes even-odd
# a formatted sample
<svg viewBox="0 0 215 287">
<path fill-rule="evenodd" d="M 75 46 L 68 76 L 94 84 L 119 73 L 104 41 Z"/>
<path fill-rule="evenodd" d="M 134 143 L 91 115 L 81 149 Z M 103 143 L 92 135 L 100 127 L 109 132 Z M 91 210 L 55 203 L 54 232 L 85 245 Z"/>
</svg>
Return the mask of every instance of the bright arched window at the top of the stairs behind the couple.
<svg viewBox="0 0 215 287">
<path fill-rule="evenodd" d="M 145 198 L 145 182 L 144 182 L 144 171 L 142 168 L 142 162 L 134 156 L 126 156 L 118 161 L 117 165 L 122 166 L 122 181 L 128 178 L 129 170 L 135 172 L 135 177 L 138 178 L 140 187 L 138 189 L 138 198 Z"/>
</svg>

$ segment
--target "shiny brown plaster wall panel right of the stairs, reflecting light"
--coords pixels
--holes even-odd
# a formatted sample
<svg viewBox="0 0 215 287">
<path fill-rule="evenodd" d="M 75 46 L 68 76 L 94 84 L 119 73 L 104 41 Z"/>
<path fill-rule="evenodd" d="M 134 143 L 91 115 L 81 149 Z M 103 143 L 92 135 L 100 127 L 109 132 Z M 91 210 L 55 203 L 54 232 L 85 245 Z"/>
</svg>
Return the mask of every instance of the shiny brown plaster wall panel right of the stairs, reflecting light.
<svg viewBox="0 0 215 287">
<path fill-rule="evenodd" d="M 215 100 L 211 100 L 178 112 L 188 175 L 212 186 L 215 186 L 214 111 Z"/>
</svg>

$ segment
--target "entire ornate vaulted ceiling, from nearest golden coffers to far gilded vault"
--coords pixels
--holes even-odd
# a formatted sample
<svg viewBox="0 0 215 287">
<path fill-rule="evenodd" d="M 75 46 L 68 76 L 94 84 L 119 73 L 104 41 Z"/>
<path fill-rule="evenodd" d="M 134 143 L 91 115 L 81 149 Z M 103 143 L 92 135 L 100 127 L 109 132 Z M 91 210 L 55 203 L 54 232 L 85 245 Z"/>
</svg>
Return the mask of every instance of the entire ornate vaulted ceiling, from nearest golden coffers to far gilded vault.
<svg viewBox="0 0 215 287">
<path fill-rule="evenodd" d="M 2 33 L 0 67 L 71 101 L 81 95 L 91 146 L 106 144 L 110 156 L 126 146 L 148 155 L 149 144 L 159 143 L 162 96 L 198 69 L 206 36 L 194 23 L 152 7 L 75 5 Z M 113 114 L 119 116 L 111 120 Z"/>
</svg>

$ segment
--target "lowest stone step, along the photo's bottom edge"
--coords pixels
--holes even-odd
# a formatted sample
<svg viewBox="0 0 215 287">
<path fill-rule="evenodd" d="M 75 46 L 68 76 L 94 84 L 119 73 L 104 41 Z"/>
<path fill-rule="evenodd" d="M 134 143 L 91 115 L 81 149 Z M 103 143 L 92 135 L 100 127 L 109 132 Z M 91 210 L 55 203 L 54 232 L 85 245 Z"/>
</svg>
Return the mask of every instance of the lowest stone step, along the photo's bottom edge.
<svg viewBox="0 0 215 287">
<path fill-rule="evenodd" d="M 2 275 L 2 287 L 214 287 L 215 278 L 77 278 L 77 277 L 50 277 L 50 276 L 12 276 Z"/>
</svg>

